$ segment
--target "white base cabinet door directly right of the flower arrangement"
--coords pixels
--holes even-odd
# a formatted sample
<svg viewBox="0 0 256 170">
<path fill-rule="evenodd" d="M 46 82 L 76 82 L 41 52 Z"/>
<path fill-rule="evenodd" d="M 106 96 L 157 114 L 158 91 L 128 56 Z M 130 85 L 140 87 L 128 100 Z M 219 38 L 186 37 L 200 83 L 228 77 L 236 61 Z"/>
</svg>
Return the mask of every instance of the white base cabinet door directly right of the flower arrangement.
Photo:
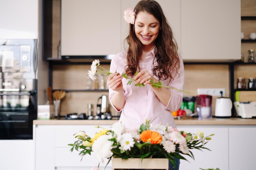
<svg viewBox="0 0 256 170">
<path fill-rule="evenodd" d="M 200 168 L 229 169 L 228 128 L 218 126 L 177 126 L 178 130 L 186 132 L 204 132 L 204 136 L 215 134 L 205 147 L 209 150 L 191 150 L 195 160 L 186 157 L 188 161 L 180 161 L 180 170 L 199 170 Z"/>
</svg>

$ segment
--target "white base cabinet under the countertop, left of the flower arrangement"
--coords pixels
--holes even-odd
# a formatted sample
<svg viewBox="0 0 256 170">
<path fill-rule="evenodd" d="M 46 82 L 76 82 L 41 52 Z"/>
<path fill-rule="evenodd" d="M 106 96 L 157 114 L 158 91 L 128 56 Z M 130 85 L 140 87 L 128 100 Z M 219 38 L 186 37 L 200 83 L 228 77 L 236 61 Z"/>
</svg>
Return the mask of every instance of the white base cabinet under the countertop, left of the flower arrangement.
<svg viewBox="0 0 256 170">
<path fill-rule="evenodd" d="M 103 128 L 110 128 L 110 126 L 101 126 Z M 91 170 L 92 167 L 97 167 L 98 162 L 96 155 L 85 155 L 81 161 L 79 152 L 70 151 L 71 146 L 76 140 L 74 134 L 83 130 L 90 137 L 94 137 L 95 132 L 100 129 L 93 125 L 38 125 L 35 126 L 35 148 L 36 148 L 36 170 Z M 108 159 L 101 163 L 101 169 L 104 169 Z M 111 162 L 108 164 L 106 170 L 111 169 Z"/>
</svg>

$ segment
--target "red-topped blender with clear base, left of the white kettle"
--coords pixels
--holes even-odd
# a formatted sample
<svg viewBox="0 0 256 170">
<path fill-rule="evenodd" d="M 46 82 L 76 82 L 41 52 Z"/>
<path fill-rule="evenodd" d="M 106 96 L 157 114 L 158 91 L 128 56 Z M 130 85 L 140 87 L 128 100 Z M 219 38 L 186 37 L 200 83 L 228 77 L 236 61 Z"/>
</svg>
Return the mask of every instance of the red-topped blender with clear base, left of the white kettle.
<svg viewBox="0 0 256 170">
<path fill-rule="evenodd" d="M 196 110 L 198 112 L 198 118 L 204 119 L 208 117 L 212 117 L 211 113 L 211 95 L 198 95 L 196 96 Z"/>
</svg>

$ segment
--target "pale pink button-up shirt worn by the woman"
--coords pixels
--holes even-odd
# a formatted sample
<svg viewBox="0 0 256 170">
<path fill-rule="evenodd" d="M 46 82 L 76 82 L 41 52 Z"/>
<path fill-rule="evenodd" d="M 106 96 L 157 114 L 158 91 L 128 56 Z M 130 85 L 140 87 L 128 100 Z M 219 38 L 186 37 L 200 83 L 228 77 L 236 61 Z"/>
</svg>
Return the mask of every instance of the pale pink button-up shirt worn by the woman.
<svg viewBox="0 0 256 170">
<path fill-rule="evenodd" d="M 147 53 L 146 59 L 144 61 L 139 61 L 139 66 L 141 70 L 146 69 L 151 75 L 153 75 L 151 69 L 153 60 L 155 58 L 155 50 Z M 155 62 L 155 64 L 157 64 Z M 126 51 L 122 51 L 115 55 L 110 64 L 110 72 L 115 73 L 125 73 L 126 62 Z M 176 71 L 173 71 L 175 75 Z M 184 84 L 184 65 L 180 57 L 180 69 L 178 71 L 179 75 L 175 75 L 174 79 L 168 78 L 166 80 L 161 80 L 162 84 L 168 87 L 177 88 L 183 90 Z M 133 76 L 135 77 L 135 76 Z M 154 76 L 158 79 L 156 76 Z M 125 124 L 127 128 L 135 127 L 139 128 L 141 124 L 144 124 L 146 119 L 150 120 L 152 124 L 162 124 L 165 126 L 176 127 L 173 115 L 171 110 L 178 110 L 182 103 L 183 92 L 173 90 L 168 88 L 171 91 L 171 97 L 169 99 L 168 105 L 164 106 L 162 102 L 158 99 L 155 93 L 152 91 L 150 85 L 145 87 L 134 86 L 135 82 L 132 82 L 131 85 L 127 85 L 129 80 L 123 78 L 123 88 L 124 88 L 124 97 L 126 99 L 125 105 L 121 110 L 117 110 L 112 104 L 111 98 L 114 95 L 115 91 L 109 89 L 109 99 L 111 105 L 115 108 L 116 111 L 122 111 L 119 121 L 122 124 Z"/>
</svg>

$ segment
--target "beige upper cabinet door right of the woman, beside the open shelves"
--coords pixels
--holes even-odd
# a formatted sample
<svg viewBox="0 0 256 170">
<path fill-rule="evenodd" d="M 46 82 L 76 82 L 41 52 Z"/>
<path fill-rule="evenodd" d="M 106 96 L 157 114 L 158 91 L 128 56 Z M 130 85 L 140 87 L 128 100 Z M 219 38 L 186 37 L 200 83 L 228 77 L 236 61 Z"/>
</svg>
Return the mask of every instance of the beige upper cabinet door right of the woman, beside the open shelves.
<svg viewBox="0 0 256 170">
<path fill-rule="evenodd" d="M 238 60 L 240 0 L 181 0 L 184 60 Z"/>
</svg>

